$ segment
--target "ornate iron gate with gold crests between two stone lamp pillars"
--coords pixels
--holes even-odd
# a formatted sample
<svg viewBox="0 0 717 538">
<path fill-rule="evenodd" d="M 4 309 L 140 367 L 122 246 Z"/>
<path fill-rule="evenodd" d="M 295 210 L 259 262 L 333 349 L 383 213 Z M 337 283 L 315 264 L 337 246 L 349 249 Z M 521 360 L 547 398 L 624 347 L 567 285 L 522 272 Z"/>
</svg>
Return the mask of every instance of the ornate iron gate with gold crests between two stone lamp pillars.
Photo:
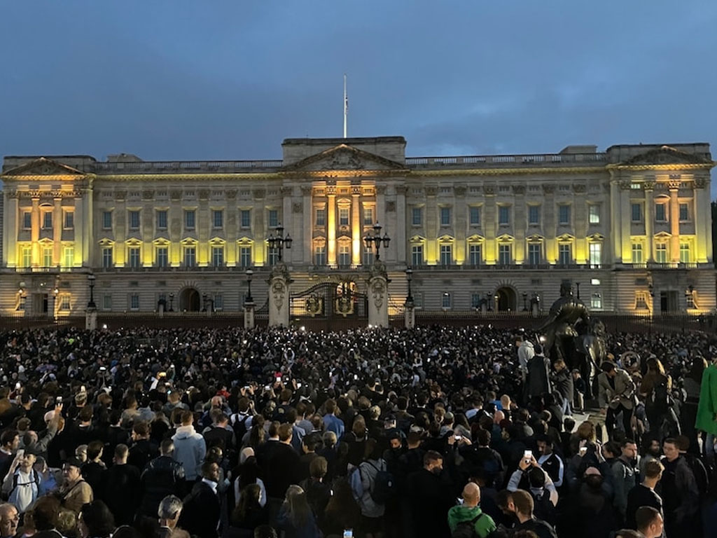
<svg viewBox="0 0 717 538">
<path fill-rule="evenodd" d="M 291 321 L 310 330 L 338 331 L 365 327 L 369 305 L 353 282 L 323 282 L 291 296 Z"/>
</svg>

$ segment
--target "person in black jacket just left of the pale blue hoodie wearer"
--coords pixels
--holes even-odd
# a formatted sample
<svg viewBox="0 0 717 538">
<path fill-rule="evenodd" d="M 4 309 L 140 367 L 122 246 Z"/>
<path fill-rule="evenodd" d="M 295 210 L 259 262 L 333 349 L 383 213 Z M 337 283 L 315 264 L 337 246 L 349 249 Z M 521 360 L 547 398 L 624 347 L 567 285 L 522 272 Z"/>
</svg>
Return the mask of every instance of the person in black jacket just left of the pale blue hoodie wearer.
<svg viewBox="0 0 717 538">
<path fill-rule="evenodd" d="M 165 439 L 161 444 L 161 456 L 150 461 L 141 474 L 141 489 L 144 492 L 140 513 L 154 517 L 157 508 L 166 496 L 176 495 L 180 499 L 186 493 L 184 467 L 172 458 L 174 441 Z"/>
</svg>

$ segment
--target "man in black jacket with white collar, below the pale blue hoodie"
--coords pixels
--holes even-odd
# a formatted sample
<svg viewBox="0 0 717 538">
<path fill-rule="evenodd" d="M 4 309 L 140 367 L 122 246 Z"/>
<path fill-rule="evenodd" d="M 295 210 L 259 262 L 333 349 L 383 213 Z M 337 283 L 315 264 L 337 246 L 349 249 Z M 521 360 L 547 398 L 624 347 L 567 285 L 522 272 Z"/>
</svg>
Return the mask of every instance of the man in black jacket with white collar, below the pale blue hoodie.
<svg viewBox="0 0 717 538">
<path fill-rule="evenodd" d="M 217 492 L 219 466 L 204 462 L 201 481 L 194 484 L 191 494 L 184 498 L 184 509 L 179 516 L 179 527 L 199 538 L 217 538 L 221 502 Z"/>
</svg>

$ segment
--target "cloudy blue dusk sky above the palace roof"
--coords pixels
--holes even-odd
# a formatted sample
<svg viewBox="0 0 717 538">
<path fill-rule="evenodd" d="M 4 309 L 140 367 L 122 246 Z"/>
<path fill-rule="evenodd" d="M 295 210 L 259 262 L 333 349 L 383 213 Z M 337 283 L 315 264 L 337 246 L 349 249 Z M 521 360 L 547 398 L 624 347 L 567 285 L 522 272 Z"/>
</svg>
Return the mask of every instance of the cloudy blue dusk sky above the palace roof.
<svg viewBox="0 0 717 538">
<path fill-rule="evenodd" d="M 716 156 L 716 27 L 712 0 L 4 0 L 0 155 L 276 159 L 341 136 L 346 72 L 349 136 L 409 156 Z"/>
</svg>

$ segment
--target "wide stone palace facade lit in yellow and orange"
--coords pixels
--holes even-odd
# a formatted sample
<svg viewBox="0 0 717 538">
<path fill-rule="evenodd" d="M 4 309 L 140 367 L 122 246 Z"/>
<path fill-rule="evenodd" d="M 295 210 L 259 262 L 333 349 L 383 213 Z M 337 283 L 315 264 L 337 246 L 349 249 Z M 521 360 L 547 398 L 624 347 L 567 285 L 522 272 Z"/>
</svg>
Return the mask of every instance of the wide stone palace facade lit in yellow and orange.
<svg viewBox="0 0 717 538">
<path fill-rule="evenodd" d="M 406 157 L 399 136 L 288 138 L 272 161 L 6 156 L 0 315 L 257 309 L 279 250 L 297 296 L 366 292 L 381 247 L 389 311 L 524 311 L 574 283 L 592 311 L 716 308 L 707 143 Z M 346 287 L 344 287 L 346 291 Z"/>
</svg>

